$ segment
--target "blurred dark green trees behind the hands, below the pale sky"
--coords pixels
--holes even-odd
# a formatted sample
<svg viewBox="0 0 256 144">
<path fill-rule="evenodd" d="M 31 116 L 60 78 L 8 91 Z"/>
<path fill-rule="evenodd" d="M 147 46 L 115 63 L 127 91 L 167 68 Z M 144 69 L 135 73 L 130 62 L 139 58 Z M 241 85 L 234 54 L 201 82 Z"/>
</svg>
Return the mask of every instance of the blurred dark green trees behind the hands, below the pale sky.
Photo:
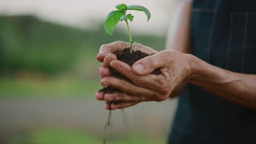
<svg viewBox="0 0 256 144">
<path fill-rule="evenodd" d="M 102 23 L 97 31 L 44 22 L 33 16 L 0 16 L 0 75 L 10 76 L 26 71 L 45 75 L 74 69 L 80 59 L 96 64 L 95 56 L 102 44 L 128 41 L 126 31 L 117 29 L 111 37 Z M 144 45 L 164 49 L 164 37 L 135 35 Z"/>
</svg>

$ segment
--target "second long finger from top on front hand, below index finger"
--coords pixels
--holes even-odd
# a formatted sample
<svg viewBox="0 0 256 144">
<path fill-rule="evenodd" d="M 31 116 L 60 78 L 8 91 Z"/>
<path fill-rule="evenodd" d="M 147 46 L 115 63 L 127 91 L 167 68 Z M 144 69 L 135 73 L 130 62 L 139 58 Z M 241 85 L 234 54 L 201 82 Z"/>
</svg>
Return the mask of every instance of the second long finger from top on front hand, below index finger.
<svg viewBox="0 0 256 144">
<path fill-rule="evenodd" d="M 130 82 L 112 76 L 101 79 L 101 85 L 113 87 L 131 95 L 145 95 L 148 97 L 149 95 L 155 94 L 155 92 L 150 89 L 135 86 Z"/>
</svg>

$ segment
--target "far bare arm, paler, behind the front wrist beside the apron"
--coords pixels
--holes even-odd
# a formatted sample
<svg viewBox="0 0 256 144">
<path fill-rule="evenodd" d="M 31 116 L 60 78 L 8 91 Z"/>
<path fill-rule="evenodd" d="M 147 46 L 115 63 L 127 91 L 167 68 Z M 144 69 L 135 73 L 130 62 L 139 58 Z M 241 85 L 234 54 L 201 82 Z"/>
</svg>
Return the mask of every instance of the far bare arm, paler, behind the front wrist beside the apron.
<svg viewBox="0 0 256 144">
<path fill-rule="evenodd" d="M 190 17 L 191 1 L 177 1 L 176 10 L 170 22 L 167 38 L 166 50 L 177 50 L 183 53 L 190 53 Z M 171 93 L 170 98 L 177 97 L 184 91 L 186 82 L 181 82 Z"/>
</svg>

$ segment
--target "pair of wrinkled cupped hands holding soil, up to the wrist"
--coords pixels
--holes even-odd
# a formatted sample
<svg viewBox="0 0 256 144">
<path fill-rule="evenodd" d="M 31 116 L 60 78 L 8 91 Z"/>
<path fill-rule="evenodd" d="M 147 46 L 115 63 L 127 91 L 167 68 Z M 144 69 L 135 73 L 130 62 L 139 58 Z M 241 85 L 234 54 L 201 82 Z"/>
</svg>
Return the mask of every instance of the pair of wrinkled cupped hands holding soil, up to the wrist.
<svg viewBox="0 0 256 144">
<path fill-rule="evenodd" d="M 126 44 L 129 45 L 129 43 Z M 174 88 L 191 75 L 189 64 L 191 57 L 188 54 L 165 50 L 142 58 L 130 67 L 124 62 L 118 61 L 115 55 L 110 54 L 113 52 L 110 49 L 122 49 L 127 46 L 124 45 L 121 42 L 103 45 L 101 47 L 101 50 L 104 51 L 103 54 L 99 53 L 97 56 L 99 61 L 103 61 L 100 68 L 102 86 L 117 88 L 121 91 L 111 94 L 96 93 L 98 100 L 107 101 L 107 110 L 124 109 L 142 101 L 166 100 Z M 142 51 L 146 49 L 143 45 L 139 45 L 139 47 Z M 149 50 L 152 49 L 149 48 Z M 110 76 L 109 66 L 130 79 L 132 83 Z M 157 68 L 160 68 L 162 74 L 151 74 Z M 118 103 L 111 103 L 113 101 Z"/>
</svg>

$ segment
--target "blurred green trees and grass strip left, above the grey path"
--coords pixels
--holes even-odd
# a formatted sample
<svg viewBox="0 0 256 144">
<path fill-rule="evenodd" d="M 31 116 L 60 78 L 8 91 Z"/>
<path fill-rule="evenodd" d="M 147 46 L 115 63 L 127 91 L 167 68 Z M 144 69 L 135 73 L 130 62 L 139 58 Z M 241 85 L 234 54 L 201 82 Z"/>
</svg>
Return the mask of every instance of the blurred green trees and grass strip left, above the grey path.
<svg viewBox="0 0 256 144">
<path fill-rule="evenodd" d="M 84 97 L 99 85 L 96 55 L 102 44 L 127 41 L 126 29 L 106 34 L 45 22 L 34 16 L 0 16 L 1 97 Z M 136 35 L 164 49 L 165 38 Z M 72 85 L 71 85 L 72 83 Z"/>
</svg>

